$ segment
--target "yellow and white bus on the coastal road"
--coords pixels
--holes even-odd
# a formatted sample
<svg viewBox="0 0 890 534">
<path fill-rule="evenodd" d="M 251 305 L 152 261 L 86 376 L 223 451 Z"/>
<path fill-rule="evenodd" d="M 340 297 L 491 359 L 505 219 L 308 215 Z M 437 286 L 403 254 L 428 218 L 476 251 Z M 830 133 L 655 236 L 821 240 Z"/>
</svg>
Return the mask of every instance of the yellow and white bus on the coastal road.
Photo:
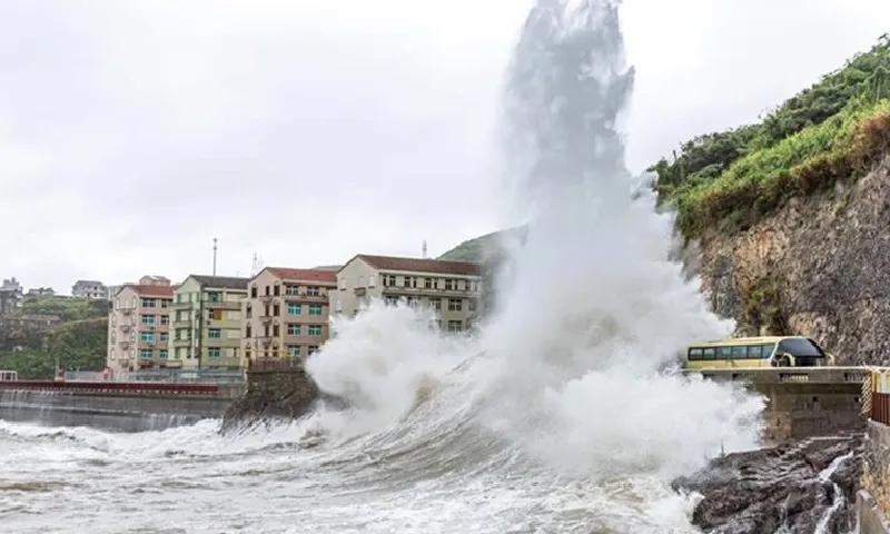
<svg viewBox="0 0 890 534">
<path fill-rule="evenodd" d="M 735 337 L 696 343 L 683 356 L 683 368 L 828 367 L 834 355 L 803 336 Z"/>
</svg>

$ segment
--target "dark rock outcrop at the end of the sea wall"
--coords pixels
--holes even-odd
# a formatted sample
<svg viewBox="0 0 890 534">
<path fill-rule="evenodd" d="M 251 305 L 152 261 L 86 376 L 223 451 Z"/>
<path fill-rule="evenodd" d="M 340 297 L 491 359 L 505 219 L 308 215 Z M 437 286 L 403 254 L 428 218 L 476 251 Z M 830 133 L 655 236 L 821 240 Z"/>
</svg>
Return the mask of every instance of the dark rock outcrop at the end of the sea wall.
<svg viewBox="0 0 890 534">
<path fill-rule="evenodd" d="M 309 413 L 319 399 L 339 403 L 322 394 L 305 370 L 250 373 L 246 394 L 226 411 L 220 432 L 274 419 L 296 419 Z"/>
</svg>

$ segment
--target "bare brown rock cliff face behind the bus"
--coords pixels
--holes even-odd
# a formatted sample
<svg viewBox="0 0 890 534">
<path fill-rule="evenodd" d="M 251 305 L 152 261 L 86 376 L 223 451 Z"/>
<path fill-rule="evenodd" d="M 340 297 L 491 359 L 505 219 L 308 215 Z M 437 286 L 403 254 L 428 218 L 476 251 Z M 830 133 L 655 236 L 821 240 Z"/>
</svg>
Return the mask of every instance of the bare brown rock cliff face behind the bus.
<svg viewBox="0 0 890 534">
<path fill-rule="evenodd" d="M 890 158 L 854 185 L 791 200 L 701 243 L 714 310 L 740 333 L 802 334 L 840 364 L 890 364 Z"/>
</svg>

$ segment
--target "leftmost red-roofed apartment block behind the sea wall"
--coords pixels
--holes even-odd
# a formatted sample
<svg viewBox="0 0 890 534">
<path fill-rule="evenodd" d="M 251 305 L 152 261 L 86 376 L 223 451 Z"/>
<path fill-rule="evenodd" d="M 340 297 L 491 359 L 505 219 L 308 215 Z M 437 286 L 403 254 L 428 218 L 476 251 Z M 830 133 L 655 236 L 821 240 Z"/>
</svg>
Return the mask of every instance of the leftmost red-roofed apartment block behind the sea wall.
<svg viewBox="0 0 890 534">
<path fill-rule="evenodd" d="M 115 375 L 166 367 L 171 286 L 125 285 L 108 314 L 107 366 Z"/>
</svg>

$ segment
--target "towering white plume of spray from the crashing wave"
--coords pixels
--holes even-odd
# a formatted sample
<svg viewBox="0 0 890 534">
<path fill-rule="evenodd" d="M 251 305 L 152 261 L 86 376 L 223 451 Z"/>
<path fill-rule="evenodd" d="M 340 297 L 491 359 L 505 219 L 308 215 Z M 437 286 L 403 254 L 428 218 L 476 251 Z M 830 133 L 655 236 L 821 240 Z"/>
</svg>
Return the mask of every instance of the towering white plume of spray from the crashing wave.
<svg viewBox="0 0 890 534">
<path fill-rule="evenodd" d="M 398 307 L 335 325 L 309 370 L 354 400 L 362 432 L 404 425 L 435 390 L 425 428 L 468 417 L 456 427 L 564 474 L 671 476 L 754 444 L 759 399 L 662 372 L 733 324 L 670 259 L 672 220 L 625 167 L 617 123 L 632 81 L 617 2 L 538 0 L 504 97 L 505 192 L 525 243 L 475 339 L 442 343 Z"/>
</svg>

